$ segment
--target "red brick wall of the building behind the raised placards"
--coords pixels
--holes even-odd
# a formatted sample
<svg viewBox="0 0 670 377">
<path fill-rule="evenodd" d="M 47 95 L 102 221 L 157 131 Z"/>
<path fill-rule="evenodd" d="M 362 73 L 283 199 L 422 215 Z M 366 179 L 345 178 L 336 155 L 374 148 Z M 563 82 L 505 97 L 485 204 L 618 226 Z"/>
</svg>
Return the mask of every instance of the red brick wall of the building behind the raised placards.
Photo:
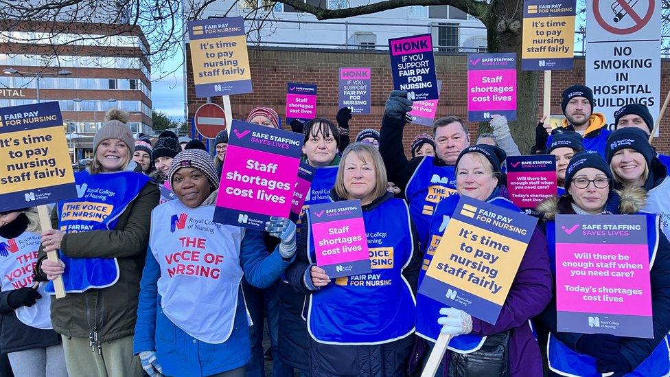
<svg viewBox="0 0 670 377">
<path fill-rule="evenodd" d="M 437 116 L 458 115 L 467 119 L 466 87 L 467 69 L 465 54 L 435 53 L 437 78 L 443 80 Z M 338 69 L 339 67 L 372 67 L 371 115 L 356 115 L 351 120 L 351 138 L 363 128 L 379 129 L 384 103 L 393 89 L 393 78 L 387 51 L 366 51 L 346 49 L 287 49 L 287 48 L 250 48 L 251 78 L 253 93 L 231 96 L 233 117 L 246 119 L 246 115 L 255 106 L 270 106 L 284 119 L 286 111 L 286 83 L 314 83 L 317 89 L 317 107 L 319 116 L 334 120 L 338 111 Z M 192 117 L 205 98 L 196 98 L 190 71 L 190 57 L 187 56 L 187 101 L 189 117 Z M 571 84 L 584 83 L 585 60 L 575 58 L 575 68 L 571 71 L 554 71 L 552 75 L 551 113 L 562 115 L 561 93 Z M 670 62 L 662 61 L 661 100 L 670 89 Z M 542 111 L 542 75 L 540 75 L 540 98 L 538 114 Z M 221 103 L 220 98 L 213 102 Z M 612 118 L 612 114 L 605 114 Z M 469 122 L 470 133 L 476 135 L 478 123 Z M 430 132 L 430 128 L 408 124 L 405 128 L 404 146 L 409 145 L 418 133 Z M 670 120 L 661 123 L 660 137 L 654 145 L 659 152 L 670 151 Z M 408 154 L 409 155 L 409 154 Z"/>
</svg>

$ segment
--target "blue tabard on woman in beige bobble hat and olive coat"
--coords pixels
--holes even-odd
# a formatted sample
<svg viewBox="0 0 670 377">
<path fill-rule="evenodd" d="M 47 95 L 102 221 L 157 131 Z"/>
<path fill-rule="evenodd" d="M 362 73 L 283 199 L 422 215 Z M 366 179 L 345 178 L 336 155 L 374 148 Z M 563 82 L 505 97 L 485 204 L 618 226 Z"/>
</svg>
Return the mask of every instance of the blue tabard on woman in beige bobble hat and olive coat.
<svg viewBox="0 0 670 377">
<path fill-rule="evenodd" d="M 137 172 L 75 174 L 79 198 L 58 203 L 58 229 L 65 233 L 114 230 L 119 216 L 137 198 L 150 178 Z M 106 288 L 119 279 L 116 258 L 70 258 L 59 252 L 65 263 L 62 275 L 65 292 L 81 293 L 89 288 Z M 54 294 L 54 284 L 46 292 Z"/>
</svg>

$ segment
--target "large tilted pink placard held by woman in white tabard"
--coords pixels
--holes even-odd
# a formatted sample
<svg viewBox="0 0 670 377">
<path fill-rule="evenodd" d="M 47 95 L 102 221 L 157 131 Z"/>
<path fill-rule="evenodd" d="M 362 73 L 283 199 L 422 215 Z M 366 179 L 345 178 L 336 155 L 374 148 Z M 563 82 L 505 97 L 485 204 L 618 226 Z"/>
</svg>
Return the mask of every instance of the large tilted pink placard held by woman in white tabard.
<svg viewBox="0 0 670 377">
<path fill-rule="evenodd" d="M 303 135 L 233 120 L 214 221 L 265 229 L 270 216 L 288 218 Z"/>
</svg>

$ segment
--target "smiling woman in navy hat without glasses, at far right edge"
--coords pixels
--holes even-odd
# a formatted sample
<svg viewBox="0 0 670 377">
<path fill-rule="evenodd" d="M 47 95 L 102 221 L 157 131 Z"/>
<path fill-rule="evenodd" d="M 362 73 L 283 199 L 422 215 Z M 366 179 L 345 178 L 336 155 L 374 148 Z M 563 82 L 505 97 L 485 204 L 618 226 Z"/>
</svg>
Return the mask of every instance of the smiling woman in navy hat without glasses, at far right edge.
<svg viewBox="0 0 670 377">
<path fill-rule="evenodd" d="M 648 138 L 640 128 L 619 128 L 608 137 L 605 158 L 614 187 L 642 187 L 649 195 L 643 212 L 659 215 L 663 233 L 670 237 L 670 178 Z"/>
</svg>

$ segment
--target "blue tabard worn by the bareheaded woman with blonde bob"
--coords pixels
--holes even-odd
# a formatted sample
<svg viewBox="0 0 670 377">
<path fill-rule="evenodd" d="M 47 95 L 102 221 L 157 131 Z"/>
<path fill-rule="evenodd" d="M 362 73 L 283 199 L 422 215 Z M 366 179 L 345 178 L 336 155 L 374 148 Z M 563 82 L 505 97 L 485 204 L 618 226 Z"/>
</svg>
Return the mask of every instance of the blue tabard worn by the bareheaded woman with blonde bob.
<svg viewBox="0 0 670 377">
<path fill-rule="evenodd" d="M 308 330 L 316 342 L 383 344 L 414 332 L 416 302 L 402 276 L 413 253 L 407 205 L 400 199 L 390 199 L 364 211 L 363 221 L 372 272 L 339 277 L 310 295 Z M 313 261 L 311 234 L 308 239 L 308 255 Z"/>
</svg>

